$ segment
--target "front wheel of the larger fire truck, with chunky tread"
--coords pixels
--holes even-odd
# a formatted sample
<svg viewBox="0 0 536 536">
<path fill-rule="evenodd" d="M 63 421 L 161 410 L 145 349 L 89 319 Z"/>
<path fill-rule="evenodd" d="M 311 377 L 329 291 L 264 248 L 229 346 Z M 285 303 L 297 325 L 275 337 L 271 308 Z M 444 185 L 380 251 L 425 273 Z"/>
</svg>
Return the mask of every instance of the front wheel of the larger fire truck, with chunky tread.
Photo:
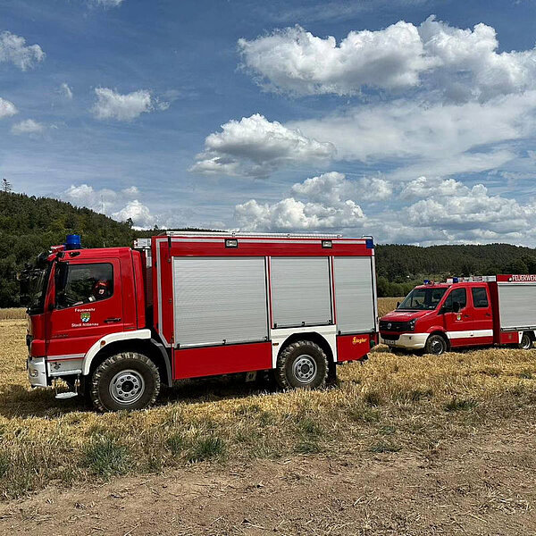
<svg viewBox="0 0 536 536">
<path fill-rule="evenodd" d="M 91 401 L 100 411 L 143 409 L 155 403 L 159 391 L 158 368 L 137 352 L 108 357 L 91 377 Z"/>
</svg>

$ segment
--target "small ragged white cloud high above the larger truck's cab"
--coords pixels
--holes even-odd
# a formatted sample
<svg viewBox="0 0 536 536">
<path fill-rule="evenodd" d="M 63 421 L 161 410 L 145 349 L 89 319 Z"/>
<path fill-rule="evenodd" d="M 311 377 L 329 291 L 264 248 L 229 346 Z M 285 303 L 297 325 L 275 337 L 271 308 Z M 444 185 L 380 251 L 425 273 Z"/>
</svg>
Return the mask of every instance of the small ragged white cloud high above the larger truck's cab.
<svg viewBox="0 0 536 536">
<path fill-rule="evenodd" d="M 155 100 L 147 89 L 121 94 L 110 88 L 96 88 L 95 93 L 92 111 L 97 119 L 132 121 L 142 113 L 155 110 Z"/>
</svg>

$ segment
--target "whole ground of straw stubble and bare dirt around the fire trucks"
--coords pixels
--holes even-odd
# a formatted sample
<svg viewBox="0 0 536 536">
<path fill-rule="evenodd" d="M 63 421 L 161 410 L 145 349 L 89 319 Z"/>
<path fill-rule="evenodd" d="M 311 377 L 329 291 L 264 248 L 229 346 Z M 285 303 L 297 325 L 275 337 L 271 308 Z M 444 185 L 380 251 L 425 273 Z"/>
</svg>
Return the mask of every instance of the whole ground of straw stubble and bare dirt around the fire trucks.
<svg viewBox="0 0 536 536">
<path fill-rule="evenodd" d="M 536 350 L 380 347 L 321 391 L 187 381 L 99 415 L 29 390 L 24 336 L 0 322 L 0 533 L 536 533 Z"/>
</svg>

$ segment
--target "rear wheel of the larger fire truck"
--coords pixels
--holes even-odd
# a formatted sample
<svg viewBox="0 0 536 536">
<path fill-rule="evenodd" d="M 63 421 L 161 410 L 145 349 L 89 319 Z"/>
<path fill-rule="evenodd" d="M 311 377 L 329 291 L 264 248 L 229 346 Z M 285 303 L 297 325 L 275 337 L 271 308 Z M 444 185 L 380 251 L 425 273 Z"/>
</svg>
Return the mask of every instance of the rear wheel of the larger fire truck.
<svg viewBox="0 0 536 536">
<path fill-rule="evenodd" d="M 306 379 L 311 370 L 313 375 Z M 328 357 L 322 348 L 310 340 L 297 340 L 281 350 L 275 379 L 281 389 L 318 389 L 325 386 L 328 372 Z"/>
</svg>

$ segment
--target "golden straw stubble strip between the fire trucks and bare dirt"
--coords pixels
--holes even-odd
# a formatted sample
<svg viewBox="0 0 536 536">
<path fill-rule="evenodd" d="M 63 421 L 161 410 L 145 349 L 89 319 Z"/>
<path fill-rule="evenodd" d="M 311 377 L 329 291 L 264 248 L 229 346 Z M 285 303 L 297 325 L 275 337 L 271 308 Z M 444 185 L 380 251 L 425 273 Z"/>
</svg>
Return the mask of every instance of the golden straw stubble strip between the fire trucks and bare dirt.
<svg viewBox="0 0 536 536">
<path fill-rule="evenodd" d="M 430 453 L 444 440 L 464 440 L 505 420 L 523 426 L 536 406 L 536 350 L 436 357 L 395 356 L 380 347 L 364 364 L 339 367 L 339 385 L 329 389 L 278 392 L 236 376 L 184 381 L 166 389 L 152 409 L 101 415 L 79 399 L 29 389 L 25 334 L 25 322 L 0 322 L 0 492 L 6 498 L 49 482 L 189 464 Z"/>
</svg>

